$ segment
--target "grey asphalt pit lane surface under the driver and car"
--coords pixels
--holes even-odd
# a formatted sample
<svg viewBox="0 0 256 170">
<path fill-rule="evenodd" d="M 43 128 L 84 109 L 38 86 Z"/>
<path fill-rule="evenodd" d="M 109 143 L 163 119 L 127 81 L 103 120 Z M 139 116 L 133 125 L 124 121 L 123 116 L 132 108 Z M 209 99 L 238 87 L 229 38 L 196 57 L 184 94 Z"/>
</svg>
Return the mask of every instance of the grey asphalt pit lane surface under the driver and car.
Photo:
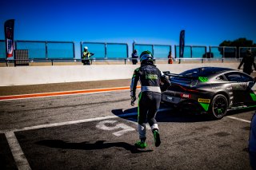
<svg viewBox="0 0 256 170">
<path fill-rule="evenodd" d="M 154 147 L 147 127 L 149 146 L 137 149 L 137 105 L 130 106 L 129 84 L 3 87 L 2 96 L 53 95 L 0 98 L 0 168 L 250 169 L 247 149 L 254 110 L 230 112 L 214 121 L 162 106 L 157 116 L 162 144 Z"/>
</svg>

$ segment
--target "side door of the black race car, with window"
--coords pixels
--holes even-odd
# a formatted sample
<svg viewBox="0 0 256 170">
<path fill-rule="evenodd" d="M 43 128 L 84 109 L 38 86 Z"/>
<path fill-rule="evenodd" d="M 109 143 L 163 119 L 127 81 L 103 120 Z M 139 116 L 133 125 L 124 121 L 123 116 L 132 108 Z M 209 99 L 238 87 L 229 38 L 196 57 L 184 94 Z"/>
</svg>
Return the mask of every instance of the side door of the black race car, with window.
<svg viewBox="0 0 256 170">
<path fill-rule="evenodd" d="M 232 87 L 235 105 L 245 105 L 252 101 L 250 93 L 251 87 L 254 85 L 254 79 L 245 73 L 226 73 L 225 74 Z"/>
</svg>

